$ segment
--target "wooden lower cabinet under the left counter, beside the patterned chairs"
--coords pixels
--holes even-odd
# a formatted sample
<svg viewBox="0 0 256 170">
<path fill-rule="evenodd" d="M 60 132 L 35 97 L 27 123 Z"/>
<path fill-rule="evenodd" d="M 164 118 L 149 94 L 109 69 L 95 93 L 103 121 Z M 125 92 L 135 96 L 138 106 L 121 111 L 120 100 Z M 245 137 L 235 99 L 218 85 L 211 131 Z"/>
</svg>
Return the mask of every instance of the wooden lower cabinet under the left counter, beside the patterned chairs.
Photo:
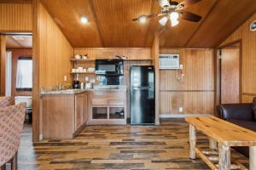
<svg viewBox="0 0 256 170">
<path fill-rule="evenodd" d="M 89 117 L 87 93 L 41 96 L 43 139 L 73 139 Z"/>
</svg>

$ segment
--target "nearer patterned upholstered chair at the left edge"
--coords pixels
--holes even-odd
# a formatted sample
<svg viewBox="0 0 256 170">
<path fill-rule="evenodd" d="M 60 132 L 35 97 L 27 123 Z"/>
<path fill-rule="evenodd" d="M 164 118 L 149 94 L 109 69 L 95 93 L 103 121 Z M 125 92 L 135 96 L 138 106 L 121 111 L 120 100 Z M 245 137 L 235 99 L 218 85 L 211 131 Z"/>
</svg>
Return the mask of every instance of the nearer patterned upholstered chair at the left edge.
<svg viewBox="0 0 256 170">
<path fill-rule="evenodd" d="M 25 114 L 26 103 L 0 109 L 0 169 L 4 169 L 9 161 L 12 170 L 17 169 L 17 152 Z"/>
</svg>

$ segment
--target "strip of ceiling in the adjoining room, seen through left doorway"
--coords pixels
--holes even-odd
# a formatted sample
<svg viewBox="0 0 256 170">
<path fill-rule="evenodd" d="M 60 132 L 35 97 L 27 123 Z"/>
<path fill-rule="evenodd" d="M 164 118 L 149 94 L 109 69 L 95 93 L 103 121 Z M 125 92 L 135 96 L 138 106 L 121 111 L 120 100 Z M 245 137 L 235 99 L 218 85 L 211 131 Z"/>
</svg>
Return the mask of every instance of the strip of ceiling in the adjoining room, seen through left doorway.
<svg viewBox="0 0 256 170">
<path fill-rule="evenodd" d="M 7 36 L 6 48 L 32 48 L 32 36 Z"/>
</svg>

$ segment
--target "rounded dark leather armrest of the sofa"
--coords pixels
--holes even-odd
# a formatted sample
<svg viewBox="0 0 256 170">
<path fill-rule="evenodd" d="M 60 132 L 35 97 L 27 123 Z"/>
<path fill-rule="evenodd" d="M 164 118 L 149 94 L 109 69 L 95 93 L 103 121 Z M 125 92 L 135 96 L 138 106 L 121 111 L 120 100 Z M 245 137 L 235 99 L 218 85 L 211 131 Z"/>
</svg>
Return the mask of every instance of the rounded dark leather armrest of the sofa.
<svg viewBox="0 0 256 170">
<path fill-rule="evenodd" d="M 217 106 L 218 117 L 222 119 L 236 119 L 254 121 L 253 104 L 224 104 Z"/>
</svg>

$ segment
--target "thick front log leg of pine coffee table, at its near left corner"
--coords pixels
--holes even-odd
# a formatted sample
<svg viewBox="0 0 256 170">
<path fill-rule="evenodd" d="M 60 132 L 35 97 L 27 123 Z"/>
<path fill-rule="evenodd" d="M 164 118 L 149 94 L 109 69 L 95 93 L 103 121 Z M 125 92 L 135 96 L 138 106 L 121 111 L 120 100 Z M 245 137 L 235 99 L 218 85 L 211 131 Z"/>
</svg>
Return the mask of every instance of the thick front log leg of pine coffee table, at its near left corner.
<svg viewBox="0 0 256 170">
<path fill-rule="evenodd" d="M 218 169 L 230 170 L 230 146 L 218 144 Z"/>
</svg>

